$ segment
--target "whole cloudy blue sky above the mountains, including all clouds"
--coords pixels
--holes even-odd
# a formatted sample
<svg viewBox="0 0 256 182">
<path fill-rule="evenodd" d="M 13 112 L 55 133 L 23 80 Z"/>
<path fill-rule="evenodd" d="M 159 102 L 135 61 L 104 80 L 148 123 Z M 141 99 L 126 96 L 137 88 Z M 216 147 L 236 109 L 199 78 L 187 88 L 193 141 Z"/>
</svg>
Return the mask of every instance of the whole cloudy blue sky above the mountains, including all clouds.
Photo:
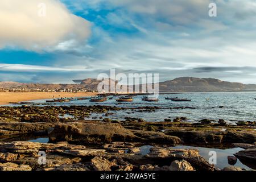
<svg viewBox="0 0 256 182">
<path fill-rule="evenodd" d="M 72 83 L 114 68 L 256 84 L 255 22 L 255 0 L 1 0 L 0 81 Z"/>
</svg>

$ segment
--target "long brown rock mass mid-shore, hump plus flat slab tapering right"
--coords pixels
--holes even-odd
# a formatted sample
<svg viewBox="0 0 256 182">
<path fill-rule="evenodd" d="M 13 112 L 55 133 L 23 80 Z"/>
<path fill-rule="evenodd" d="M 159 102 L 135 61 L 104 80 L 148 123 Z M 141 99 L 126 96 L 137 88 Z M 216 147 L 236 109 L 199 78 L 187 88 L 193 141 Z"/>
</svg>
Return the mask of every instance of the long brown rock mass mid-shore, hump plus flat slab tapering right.
<svg viewBox="0 0 256 182">
<path fill-rule="evenodd" d="M 51 142 L 67 141 L 80 144 L 109 142 L 151 142 L 177 144 L 181 140 L 161 132 L 125 129 L 118 123 L 85 122 L 57 125 L 49 133 Z"/>
</svg>

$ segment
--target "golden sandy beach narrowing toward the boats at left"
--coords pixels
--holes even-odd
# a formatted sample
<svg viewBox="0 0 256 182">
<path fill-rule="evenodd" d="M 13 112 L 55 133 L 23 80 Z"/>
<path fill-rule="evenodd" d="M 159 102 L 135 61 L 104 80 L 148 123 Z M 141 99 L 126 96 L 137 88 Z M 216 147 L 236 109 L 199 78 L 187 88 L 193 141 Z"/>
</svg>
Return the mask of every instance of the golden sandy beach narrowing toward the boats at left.
<svg viewBox="0 0 256 182">
<path fill-rule="evenodd" d="M 0 105 L 10 102 L 25 102 L 32 100 L 60 98 L 60 97 L 86 97 L 95 96 L 97 93 L 54 93 L 54 92 L 0 92 Z"/>
</svg>

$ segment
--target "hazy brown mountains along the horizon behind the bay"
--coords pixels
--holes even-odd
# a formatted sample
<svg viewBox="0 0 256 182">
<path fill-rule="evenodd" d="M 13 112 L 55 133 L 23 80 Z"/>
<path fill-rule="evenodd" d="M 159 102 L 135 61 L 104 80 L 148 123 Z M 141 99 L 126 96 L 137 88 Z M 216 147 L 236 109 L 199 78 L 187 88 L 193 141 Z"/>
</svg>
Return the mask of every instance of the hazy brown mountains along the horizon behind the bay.
<svg viewBox="0 0 256 182">
<path fill-rule="evenodd" d="M 112 84 L 117 81 L 106 80 Z M 34 84 L 20 82 L 0 82 L 2 89 L 87 89 L 97 90 L 101 81 L 94 78 L 74 80 L 76 84 Z M 174 80 L 159 82 L 160 92 L 239 92 L 256 91 L 255 84 L 241 84 L 239 82 L 221 81 L 214 78 L 180 77 Z"/>
</svg>

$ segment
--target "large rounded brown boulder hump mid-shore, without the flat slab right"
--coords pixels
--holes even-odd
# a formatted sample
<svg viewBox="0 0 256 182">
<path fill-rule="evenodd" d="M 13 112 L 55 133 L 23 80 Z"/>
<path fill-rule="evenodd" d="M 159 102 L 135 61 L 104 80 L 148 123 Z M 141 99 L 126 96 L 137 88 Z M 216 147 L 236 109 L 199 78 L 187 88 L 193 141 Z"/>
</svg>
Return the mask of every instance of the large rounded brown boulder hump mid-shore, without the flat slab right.
<svg viewBox="0 0 256 182">
<path fill-rule="evenodd" d="M 118 123 L 85 122 L 57 125 L 49 134 L 51 142 L 67 141 L 79 144 L 98 144 L 137 139 Z"/>
</svg>

